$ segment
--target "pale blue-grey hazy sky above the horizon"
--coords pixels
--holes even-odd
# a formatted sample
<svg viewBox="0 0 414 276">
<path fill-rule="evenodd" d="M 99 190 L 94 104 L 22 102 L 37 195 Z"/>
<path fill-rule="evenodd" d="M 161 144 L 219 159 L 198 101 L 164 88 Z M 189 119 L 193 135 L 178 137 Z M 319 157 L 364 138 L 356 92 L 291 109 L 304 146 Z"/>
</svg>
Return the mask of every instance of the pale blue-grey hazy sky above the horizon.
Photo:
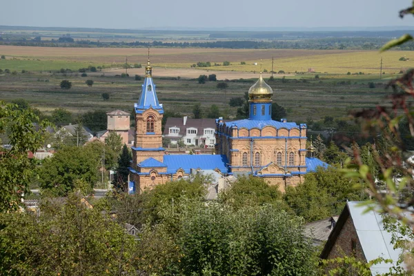
<svg viewBox="0 0 414 276">
<path fill-rule="evenodd" d="M 414 26 L 411 0 L 2 0 L 0 26 L 317 28 Z"/>
</svg>

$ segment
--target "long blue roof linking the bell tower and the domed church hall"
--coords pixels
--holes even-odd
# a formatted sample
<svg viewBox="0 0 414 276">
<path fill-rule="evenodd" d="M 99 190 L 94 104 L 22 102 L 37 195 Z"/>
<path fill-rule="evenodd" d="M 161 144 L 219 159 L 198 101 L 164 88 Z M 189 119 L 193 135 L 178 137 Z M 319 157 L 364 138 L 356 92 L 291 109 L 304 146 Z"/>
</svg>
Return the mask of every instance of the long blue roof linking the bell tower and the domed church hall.
<svg viewBox="0 0 414 276">
<path fill-rule="evenodd" d="M 221 173 L 227 173 L 226 155 L 165 155 L 164 164 L 168 166 L 167 172 L 175 173 L 179 168 L 190 173 L 191 168 L 201 170 L 214 170 L 218 168 Z"/>
</svg>

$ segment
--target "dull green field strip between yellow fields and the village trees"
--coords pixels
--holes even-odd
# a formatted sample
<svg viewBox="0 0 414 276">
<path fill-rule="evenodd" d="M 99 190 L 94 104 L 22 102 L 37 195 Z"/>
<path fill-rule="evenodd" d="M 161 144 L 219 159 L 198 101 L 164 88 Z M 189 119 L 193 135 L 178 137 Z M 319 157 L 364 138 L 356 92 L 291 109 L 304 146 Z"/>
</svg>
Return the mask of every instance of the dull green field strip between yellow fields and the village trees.
<svg viewBox="0 0 414 276">
<path fill-rule="evenodd" d="M 258 76 L 256 76 L 258 77 Z M 346 76 L 348 77 L 348 76 Z M 345 79 L 280 79 L 268 81 L 275 91 L 273 101 L 288 110 L 288 120 L 305 122 L 306 119 L 322 119 L 325 116 L 346 117 L 349 110 L 370 108 L 384 102 L 390 90 L 384 90 L 386 79 L 376 81 L 376 88 L 368 88 L 368 75 Z M 372 77 L 372 76 L 371 76 Z M 384 76 L 390 78 L 390 75 Z M 72 81 L 72 88 L 62 90 L 63 79 Z M 92 87 L 86 79 L 93 79 Z M 231 97 L 243 97 L 253 84 L 250 82 L 228 82 L 228 89 L 219 90 L 217 82 L 199 84 L 190 79 L 163 79 L 155 77 L 159 101 L 166 110 L 191 115 L 193 105 L 201 103 L 204 110 L 212 104 L 219 106 L 224 117 L 235 117 L 237 108 L 230 108 Z M 75 114 L 90 110 L 130 111 L 139 99 L 141 82 L 134 77 L 79 77 L 75 74 L 63 77 L 59 74 L 0 75 L 0 99 L 26 99 L 32 106 L 49 113 L 55 108 L 66 108 Z M 103 101 L 101 94 L 108 92 L 110 99 Z"/>
</svg>

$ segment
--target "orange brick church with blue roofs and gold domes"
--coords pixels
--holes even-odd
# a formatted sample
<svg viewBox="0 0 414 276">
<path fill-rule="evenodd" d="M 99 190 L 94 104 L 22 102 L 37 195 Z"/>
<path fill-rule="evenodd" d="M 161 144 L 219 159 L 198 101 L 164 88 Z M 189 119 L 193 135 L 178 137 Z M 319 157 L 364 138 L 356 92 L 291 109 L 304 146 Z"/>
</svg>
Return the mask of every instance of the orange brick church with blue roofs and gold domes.
<svg viewBox="0 0 414 276">
<path fill-rule="evenodd" d="M 192 170 L 210 170 L 220 175 L 263 177 L 282 192 L 304 180 L 307 172 L 328 164 L 306 148 L 306 124 L 274 121 L 273 90 L 260 74 L 249 89 L 249 118 L 216 120 L 213 155 L 168 155 L 162 147 L 161 120 L 164 108 L 157 98 L 148 59 L 141 96 L 135 103 L 135 142 L 128 181 L 129 193 L 142 193 L 157 184 L 190 175 Z"/>
</svg>

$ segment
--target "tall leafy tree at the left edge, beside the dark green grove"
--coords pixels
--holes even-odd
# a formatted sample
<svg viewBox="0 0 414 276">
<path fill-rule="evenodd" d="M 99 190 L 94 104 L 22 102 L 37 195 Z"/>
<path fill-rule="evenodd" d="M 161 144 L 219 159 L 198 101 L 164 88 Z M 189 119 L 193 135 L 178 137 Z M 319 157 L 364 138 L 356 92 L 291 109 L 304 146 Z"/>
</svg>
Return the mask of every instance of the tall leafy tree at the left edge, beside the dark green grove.
<svg viewBox="0 0 414 276">
<path fill-rule="evenodd" d="M 0 154 L 0 213 L 15 210 L 28 184 L 37 176 L 37 163 L 28 158 L 43 145 L 47 121 L 40 121 L 36 130 L 32 121 L 39 121 L 32 110 L 19 109 L 0 101 L 0 135 L 7 135 L 12 148 Z"/>
</svg>

